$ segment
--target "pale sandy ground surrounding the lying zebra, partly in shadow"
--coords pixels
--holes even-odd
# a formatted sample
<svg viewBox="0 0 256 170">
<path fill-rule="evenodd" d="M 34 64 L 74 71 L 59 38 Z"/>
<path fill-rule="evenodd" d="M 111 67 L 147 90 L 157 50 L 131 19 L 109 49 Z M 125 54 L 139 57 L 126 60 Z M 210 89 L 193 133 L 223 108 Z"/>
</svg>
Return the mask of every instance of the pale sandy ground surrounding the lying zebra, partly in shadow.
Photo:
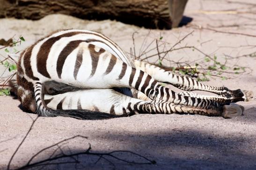
<svg viewBox="0 0 256 170">
<path fill-rule="evenodd" d="M 252 90 L 256 94 L 256 57 L 238 57 L 255 51 L 256 17 L 249 10 L 256 9 L 251 1 L 224 0 L 189 0 L 185 10 L 193 18 L 190 26 L 172 30 L 151 30 L 146 40 L 163 37 L 170 45 L 186 34 L 194 31 L 179 47 L 193 45 L 207 54 L 216 54 L 223 60 L 224 54 L 234 57 L 229 65 L 247 67 L 247 72 L 229 75 L 232 79 L 211 79 L 206 84 L 227 86 L 231 89 Z M 215 11 L 215 12 L 209 12 Z M 241 34 L 223 34 L 211 30 L 197 29 L 210 27 L 219 31 Z M 215 28 L 218 27 L 218 28 Z M 16 47 L 18 50 L 32 44 L 37 39 L 55 29 L 82 28 L 101 32 L 116 41 L 125 51 L 132 47 L 132 33 L 135 34 L 136 50 L 139 51 L 148 29 L 125 25 L 120 22 L 103 20 L 80 20 L 65 15 L 50 15 L 42 20 L 0 19 L 0 38 L 9 39 L 13 35 L 22 35 L 26 41 Z M 251 34 L 246 36 L 242 34 Z M 156 50 L 154 50 L 156 52 Z M 4 54 L 3 50 L 1 54 Z M 172 52 L 169 57 L 178 61 L 194 61 L 204 55 L 182 49 Z M 1 58 L 2 59 L 2 58 Z M 151 61 L 154 61 L 152 59 Z M 164 63 L 168 65 L 168 62 Z M 3 67 L 0 68 L 3 70 Z M 102 101 L 104 102 L 104 101 Z M 110 159 L 97 160 L 97 156 L 80 156 L 81 165 L 52 165 L 46 169 L 123 169 L 123 170 L 255 170 L 256 169 L 256 101 L 239 102 L 245 107 L 244 116 L 233 119 L 207 117 L 198 115 L 135 115 L 131 117 L 104 120 L 81 121 L 73 118 L 40 117 L 35 122 L 27 139 L 15 155 L 11 167 L 19 167 L 39 150 L 63 139 L 81 135 L 88 139 L 73 139 L 61 147 L 65 153 L 83 151 L 92 146 L 93 152 L 110 152 L 130 150 L 146 156 L 157 163 L 138 165 Z M 6 169 L 10 157 L 27 133 L 32 119 L 37 116 L 23 112 L 20 102 L 12 97 L 0 97 L 0 169 Z M 31 119 L 32 118 L 32 119 Z M 46 150 L 35 158 L 43 160 L 53 150 Z M 131 154 L 121 153 L 117 156 L 132 161 L 142 161 Z M 65 162 L 72 161 L 63 160 Z"/>
</svg>

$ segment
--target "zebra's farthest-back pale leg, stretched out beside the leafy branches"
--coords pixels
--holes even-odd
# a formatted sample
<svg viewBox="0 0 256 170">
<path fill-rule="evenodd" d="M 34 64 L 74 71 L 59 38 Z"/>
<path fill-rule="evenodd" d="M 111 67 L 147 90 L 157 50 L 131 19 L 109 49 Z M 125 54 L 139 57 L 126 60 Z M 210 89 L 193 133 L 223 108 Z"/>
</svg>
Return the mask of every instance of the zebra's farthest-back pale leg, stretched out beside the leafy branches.
<svg viewBox="0 0 256 170">
<path fill-rule="evenodd" d="M 138 60 L 133 60 L 133 62 L 136 68 L 145 71 L 147 74 L 151 75 L 156 81 L 166 82 L 186 91 L 202 90 L 216 93 L 218 95 L 228 93 L 232 95 L 232 98 L 237 98 L 237 101 L 251 101 L 254 99 L 252 91 L 241 89 L 230 90 L 226 87 L 208 86 L 201 82 L 197 82 L 190 77 L 174 75 L 168 71 L 165 71 L 164 69 L 148 64 L 146 62 Z"/>
</svg>

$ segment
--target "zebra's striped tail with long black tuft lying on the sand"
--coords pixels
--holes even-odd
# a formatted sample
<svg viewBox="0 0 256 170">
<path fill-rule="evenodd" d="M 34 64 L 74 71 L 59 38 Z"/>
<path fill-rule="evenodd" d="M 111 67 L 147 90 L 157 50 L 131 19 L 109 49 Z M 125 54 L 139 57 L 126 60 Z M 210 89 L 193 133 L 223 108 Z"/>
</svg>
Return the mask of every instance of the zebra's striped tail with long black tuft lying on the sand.
<svg viewBox="0 0 256 170">
<path fill-rule="evenodd" d="M 85 109 L 80 110 L 53 110 L 46 106 L 44 103 L 44 85 L 41 82 L 36 82 L 34 86 L 34 95 L 37 105 L 37 115 L 44 117 L 55 117 L 55 116 L 64 116 L 64 117 L 73 117 L 76 119 L 82 120 L 100 120 L 100 119 L 110 119 L 117 117 L 126 117 L 128 114 L 124 115 L 111 115 L 104 112 L 90 111 Z"/>
</svg>

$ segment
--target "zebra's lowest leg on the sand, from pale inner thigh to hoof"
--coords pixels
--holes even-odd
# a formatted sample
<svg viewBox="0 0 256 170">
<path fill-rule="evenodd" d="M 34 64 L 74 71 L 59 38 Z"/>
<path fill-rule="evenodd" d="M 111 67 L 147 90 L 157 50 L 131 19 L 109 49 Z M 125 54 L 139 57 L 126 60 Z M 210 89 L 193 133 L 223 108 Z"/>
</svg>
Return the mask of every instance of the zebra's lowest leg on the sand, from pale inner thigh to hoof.
<svg viewBox="0 0 256 170">
<path fill-rule="evenodd" d="M 90 97 L 88 97 L 90 96 Z M 139 114 L 199 114 L 204 116 L 240 116 L 237 106 L 224 106 L 223 109 L 202 109 L 176 105 L 163 100 L 143 101 L 116 92 L 113 89 L 81 89 L 59 95 L 45 95 L 45 104 L 51 109 L 86 109 L 111 115 Z M 99 102 L 104 101 L 104 102 Z"/>
</svg>

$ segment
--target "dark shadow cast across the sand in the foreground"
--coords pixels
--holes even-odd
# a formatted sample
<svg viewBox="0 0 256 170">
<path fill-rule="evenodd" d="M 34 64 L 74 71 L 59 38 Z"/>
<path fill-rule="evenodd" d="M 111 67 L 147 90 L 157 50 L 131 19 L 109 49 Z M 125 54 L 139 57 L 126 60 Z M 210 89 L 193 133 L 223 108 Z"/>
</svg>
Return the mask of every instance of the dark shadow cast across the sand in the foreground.
<svg viewBox="0 0 256 170">
<path fill-rule="evenodd" d="M 142 156 L 146 156 L 151 160 L 155 160 L 156 164 L 140 165 L 125 163 L 111 157 L 108 158 L 108 160 L 101 159 L 97 162 L 99 156 L 80 155 L 45 163 L 45 168 L 58 168 L 61 170 L 72 170 L 74 167 L 75 169 L 88 167 L 92 170 L 112 170 L 115 168 L 123 170 L 254 170 L 256 168 L 255 140 L 253 139 L 253 136 L 251 138 L 247 137 L 246 139 L 243 136 L 236 135 L 215 136 L 200 130 L 195 131 L 186 129 L 170 129 L 169 131 L 159 131 L 158 133 L 148 134 L 140 132 L 137 134 L 111 132 L 111 134 L 97 134 L 97 136 L 98 137 L 94 140 L 100 140 L 107 143 L 119 143 L 122 146 L 122 150 L 129 150 Z M 87 149 L 87 142 L 89 143 L 90 140 L 85 141 L 85 149 L 83 150 L 73 150 L 72 148 L 69 148 L 71 145 L 66 143 L 65 145 L 62 145 L 63 149 L 57 151 L 55 154 L 58 155 L 60 151 L 65 154 L 85 151 Z M 157 146 L 153 145 L 153 143 L 156 143 Z M 58 148 L 51 150 L 51 152 L 42 152 L 42 155 L 38 156 L 36 161 L 49 157 L 56 150 L 58 150 Z M 95 153 L 102 153 L 114 151 L 116 149 L 98 150 L 97 146 L 92 146 L 92 150 Z M 131 162 L 141 161 L 140 157 L 125 152 L 117 153 L 115 156 Z M 20 158 L 16 157 L 16 159 Z M 72 163 L 74 159 L 79 160 L 79 163 Z"/>
</svg>

